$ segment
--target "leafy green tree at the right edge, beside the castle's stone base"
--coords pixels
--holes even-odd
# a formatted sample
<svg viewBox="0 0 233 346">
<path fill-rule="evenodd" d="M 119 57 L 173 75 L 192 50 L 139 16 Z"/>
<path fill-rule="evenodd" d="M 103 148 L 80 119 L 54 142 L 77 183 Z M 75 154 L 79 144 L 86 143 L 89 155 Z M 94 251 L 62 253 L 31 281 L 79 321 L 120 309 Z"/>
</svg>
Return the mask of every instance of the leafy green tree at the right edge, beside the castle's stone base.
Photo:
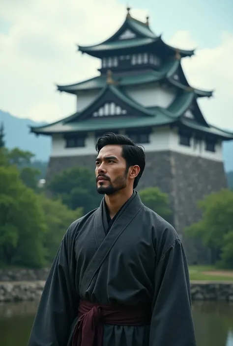
<svg viewBox="0 0 233 346">
<path fill-rule="evenodd" d="M 210 248 L 212 263 L 225 260 L 229 255 L 230 232 L 233 231 L 233 191 L 222 189 L 206 196 L 198 203 L 203 212 L 202 219 L 185 230 L 189 237 L 200 238 Z M 224 261 L 225 261 L 224 260 Z M 226 262 L 222 262 L 222 264 Z"/>
</svg>

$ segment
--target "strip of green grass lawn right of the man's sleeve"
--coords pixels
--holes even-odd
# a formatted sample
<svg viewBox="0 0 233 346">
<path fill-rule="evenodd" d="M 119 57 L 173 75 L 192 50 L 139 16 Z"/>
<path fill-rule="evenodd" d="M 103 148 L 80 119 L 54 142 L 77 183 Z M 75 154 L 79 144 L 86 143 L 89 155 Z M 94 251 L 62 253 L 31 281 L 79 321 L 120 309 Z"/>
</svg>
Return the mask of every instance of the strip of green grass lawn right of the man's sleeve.
<svg viewBox="0 0 233 346">
<path fill-rule="evenodd" d="M 189 266 L 190 281 L 233 281 L 233 270 L 214 266 Z"/>
</svg>

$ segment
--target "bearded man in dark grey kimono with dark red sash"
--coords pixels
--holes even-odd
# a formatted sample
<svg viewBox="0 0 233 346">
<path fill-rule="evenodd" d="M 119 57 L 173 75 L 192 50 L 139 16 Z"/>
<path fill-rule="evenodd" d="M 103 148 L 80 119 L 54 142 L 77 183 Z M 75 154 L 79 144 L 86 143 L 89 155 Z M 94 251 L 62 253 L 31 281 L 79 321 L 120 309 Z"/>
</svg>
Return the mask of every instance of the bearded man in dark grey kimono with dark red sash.
<svg viewBox="0 0 233 346">
<path fill-rule="evenodd" d="M 182 244 L 134 190 L 143 149 L 107 133 L 96 150 L 105 196 L 64 235 L 29 346 L 195 346 Z"/>
</svg>

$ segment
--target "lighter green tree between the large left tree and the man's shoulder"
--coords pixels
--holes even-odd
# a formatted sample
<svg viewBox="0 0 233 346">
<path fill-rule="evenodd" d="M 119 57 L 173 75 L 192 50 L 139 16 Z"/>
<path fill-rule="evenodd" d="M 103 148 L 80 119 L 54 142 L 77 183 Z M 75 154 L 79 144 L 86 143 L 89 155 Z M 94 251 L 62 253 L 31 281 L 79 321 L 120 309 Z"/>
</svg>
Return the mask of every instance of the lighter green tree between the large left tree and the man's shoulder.
<svg viewBox="0 0 233 346">
<path fill-rule="evenodd" d="M 60 200 L 46 198 L 43 194 L 40 196 L 40 203 L 45 215 L 47 229 L 44 238 L 45 259 L 47 263 L 51 263 L 67 228 L 73 221 L 82 216 L 83 211 L 82 208 L 69 210 Z"/>
</svg>

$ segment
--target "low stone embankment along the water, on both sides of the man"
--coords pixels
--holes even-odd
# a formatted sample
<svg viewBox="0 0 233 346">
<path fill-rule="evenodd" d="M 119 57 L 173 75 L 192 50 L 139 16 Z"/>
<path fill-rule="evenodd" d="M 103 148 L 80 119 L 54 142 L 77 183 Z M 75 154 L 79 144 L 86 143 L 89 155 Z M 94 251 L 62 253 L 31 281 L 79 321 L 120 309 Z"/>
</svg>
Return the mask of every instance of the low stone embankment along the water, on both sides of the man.
<svg viewBox="0 0 233 346">
<path fill-rule="evenodd" d="M 0 302 L 38 300 L 49 269 L 0 270 Z M 191 282 L 192 300 L 233 301 L 233 282 Z"/>
</svg>

